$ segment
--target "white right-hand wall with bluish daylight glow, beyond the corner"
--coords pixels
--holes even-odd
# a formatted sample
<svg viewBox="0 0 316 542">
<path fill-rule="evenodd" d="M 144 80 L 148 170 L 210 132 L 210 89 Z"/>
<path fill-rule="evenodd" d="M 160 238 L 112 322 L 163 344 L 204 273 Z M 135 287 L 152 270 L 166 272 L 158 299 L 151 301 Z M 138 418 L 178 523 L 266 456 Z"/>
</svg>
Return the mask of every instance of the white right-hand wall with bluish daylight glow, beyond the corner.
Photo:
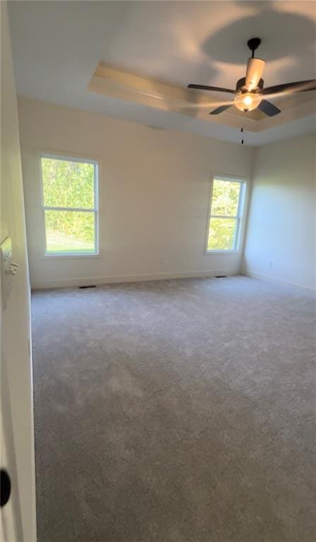
<svg viewBox="0 0 316 542">
<path fill-rule="evenodd" d="M 255 152 L 243 269 L 316 289 L 315 136 Z"/>
</svg>

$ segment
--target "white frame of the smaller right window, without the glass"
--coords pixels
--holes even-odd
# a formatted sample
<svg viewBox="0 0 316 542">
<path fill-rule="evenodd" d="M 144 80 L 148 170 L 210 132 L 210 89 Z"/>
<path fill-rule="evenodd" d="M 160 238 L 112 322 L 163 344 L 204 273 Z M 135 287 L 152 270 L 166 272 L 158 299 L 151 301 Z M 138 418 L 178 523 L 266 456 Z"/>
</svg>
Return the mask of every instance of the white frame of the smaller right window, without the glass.
<svg viewBox="0 0 316 542">
<path fill-rule="evenodd" d="M 219 181 L 232 181 L 238 182 L 241 184 L 241 192 L 239 194 L 238 200 L 238 209 L 236 216 L 226 216 L 226 215 L 212 215 L 212 199 L 213 199 L 213 187 L 214 180 L 218 179 Z M 243 238 L 243 223 L 245 216 L 245 201 L 246 201 L 246 192 L 247 192 L 248 179 L 245 177 L 236 177 L 235 175 L 222 175 L 214 173 L 211 177 L 210 187 L 209 187 L 209 205 L 207 213 L 207 225 L 206 225 L 206 235 L 205 235 L 205 255 L 209 256 L 210 254 L 237 254 L 241 250 L 241 241 Z M 209 226 L 212 218 L 233 218 L 236 220 L 236 229 L 234 235 L 234 246 L 233 249 L 208 249 L 209 241 Z"/>
</svg>

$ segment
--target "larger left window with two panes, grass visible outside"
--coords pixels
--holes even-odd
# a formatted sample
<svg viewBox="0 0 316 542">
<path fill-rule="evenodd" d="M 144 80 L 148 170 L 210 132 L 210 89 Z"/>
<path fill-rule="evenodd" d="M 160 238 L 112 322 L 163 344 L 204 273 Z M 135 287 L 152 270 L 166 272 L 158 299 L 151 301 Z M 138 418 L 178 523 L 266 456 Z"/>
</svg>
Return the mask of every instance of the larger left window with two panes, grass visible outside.
<svg viewBox="0 0 316 542">
<path fill-rule="evenodd" d="M 47 255 L 97 254 L 97 162 L 42 155 Z"/>
</svg>

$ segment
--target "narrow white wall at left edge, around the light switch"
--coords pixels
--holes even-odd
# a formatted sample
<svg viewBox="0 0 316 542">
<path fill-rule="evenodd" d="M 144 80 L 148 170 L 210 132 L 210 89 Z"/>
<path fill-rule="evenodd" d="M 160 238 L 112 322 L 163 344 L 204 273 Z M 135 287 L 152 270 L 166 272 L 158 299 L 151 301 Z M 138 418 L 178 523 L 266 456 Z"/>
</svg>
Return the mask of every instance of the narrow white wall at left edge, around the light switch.
<svg viewBox="0 0 316 542">
<path fill-rule="evenodd" d="M 30 285 L 26 253 L 18 110 L 6 3 L 1 11 L 1 232 L 12 239 L 18 273 L 6 309 L 1 296 L 1 467 L 12 493 L 1 509 L 1 540 L 35 542 L 35 469 L 30 359 Z"/>
</svg>

